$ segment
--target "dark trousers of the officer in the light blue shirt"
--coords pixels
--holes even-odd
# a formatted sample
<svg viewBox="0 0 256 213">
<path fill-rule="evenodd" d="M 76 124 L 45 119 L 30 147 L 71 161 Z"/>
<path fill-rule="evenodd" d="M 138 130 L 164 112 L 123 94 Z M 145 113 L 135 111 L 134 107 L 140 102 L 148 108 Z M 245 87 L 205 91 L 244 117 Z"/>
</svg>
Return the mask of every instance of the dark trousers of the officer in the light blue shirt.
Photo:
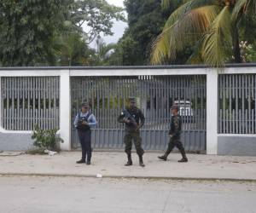
<svg viewBox="0 0 256 213">
<path fill-rule="evenodd" d="M 79 133 L 79 141 L 82 148 L 82 159 L 85 160 L 87 155 L 87 160 L 90 161 L 91 158 L 91 132 L 90 130 L 78 130 Z"/>
</svg>

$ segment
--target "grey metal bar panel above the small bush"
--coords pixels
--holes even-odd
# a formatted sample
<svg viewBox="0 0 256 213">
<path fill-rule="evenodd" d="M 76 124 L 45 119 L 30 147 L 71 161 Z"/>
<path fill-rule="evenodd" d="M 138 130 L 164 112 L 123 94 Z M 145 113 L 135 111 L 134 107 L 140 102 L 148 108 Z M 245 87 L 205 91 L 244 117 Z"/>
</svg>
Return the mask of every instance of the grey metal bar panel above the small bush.
<svg viewBox="0 0 256 213">
<path fill-rule="evenodd" d="M 59 77 L 3 77 L 1 85 L 3 129 L 59 128 Z"/>
</svg>

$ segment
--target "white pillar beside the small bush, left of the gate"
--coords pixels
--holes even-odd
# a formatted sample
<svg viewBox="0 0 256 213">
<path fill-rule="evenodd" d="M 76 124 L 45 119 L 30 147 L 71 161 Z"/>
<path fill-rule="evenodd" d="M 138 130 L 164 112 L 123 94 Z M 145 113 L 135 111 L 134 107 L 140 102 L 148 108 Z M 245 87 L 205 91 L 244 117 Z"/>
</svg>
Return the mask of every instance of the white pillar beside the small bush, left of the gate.
<svg viewBox="0 0 256 213">
<path fill-rule="evenodd" d="M 60 84 L 60 135 L 64 141 L 61 143 L 61 150 L 71 150 L 71 99 L 69 70 L 61 70 Z"/>
</svg>

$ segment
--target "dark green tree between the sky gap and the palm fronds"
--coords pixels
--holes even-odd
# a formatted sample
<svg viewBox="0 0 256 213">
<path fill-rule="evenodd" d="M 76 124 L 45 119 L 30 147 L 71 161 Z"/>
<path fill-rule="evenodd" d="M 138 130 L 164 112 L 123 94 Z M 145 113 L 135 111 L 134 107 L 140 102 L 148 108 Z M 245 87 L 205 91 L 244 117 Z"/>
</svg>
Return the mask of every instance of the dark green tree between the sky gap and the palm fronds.
<svg viewBox="0 0 256 213">
<path fill-rule="evenodd" d="M 159 0 L 125 0 L 125 8 L 129 27 L 118 43 L 117 64 L 120 60 L 125 66 L 148 64 L 151 44 L 166 22 L 166 12 Z"/>
</svg>

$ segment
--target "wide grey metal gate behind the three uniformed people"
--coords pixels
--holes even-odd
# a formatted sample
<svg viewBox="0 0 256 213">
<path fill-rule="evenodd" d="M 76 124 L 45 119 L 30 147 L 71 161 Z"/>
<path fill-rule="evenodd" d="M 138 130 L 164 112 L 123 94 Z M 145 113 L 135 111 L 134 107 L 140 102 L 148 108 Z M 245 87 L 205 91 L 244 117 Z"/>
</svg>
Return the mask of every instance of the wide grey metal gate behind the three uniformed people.
<svg viewBox="0 0 256 213">
<path fill-rule="evenodd" d="M 145 150 L 163 150 L 168 143 L 170 107 L 179 105 L 182 141 L 187 151 L 206 150 L 206 76 L 135 76 L 71 78 L 72 123 L 81 102 L 89 101 L 98 125 L 92 130 L 96 149 L 123 149 L 124 126 L 117 122 L 130 96 L 145 115 L 141 130 Z M 72 124 L 73 126 L 73 124 Z M 79 138 L 72 128 L 72 147 Z"/>
</svg>

